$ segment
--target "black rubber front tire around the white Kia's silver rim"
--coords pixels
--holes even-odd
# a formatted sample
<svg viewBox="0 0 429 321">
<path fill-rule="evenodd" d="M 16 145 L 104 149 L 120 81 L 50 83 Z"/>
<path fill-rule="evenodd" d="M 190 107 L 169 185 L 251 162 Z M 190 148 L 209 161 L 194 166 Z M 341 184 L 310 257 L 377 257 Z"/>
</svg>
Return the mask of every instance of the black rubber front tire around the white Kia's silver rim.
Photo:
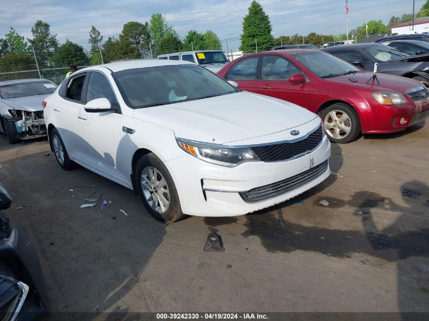
<svg viewBox="0 0 429 321">
<path fill-rule="evenodd" d="M 155 172 L 155 174 L 157 175 L 156 180 L 161 181 L 162 178 L 164 179 L 166 186 L 162 187 L 162 189 L 167 190 L 168 193 L 162 193 L 157 191 L 156 185 L 155 185 L 155 189 L 153 186 L 151 186 L 152 191 L 147 189 L 145 190 L 145 192 L 143 191 L 143 185 L 142 185 L 142 181 L 144 181 L 142 177 L 143 171 L 145 171 L 144 173 L 147 173 L 147 171 L 150 171 L 152 168 L 157 171 L 157 173 Z M 155 154 L 149 153 L 143 156 L 139 160 L 139 162 L 136 165 L 135 180 L 136 180 L 137 191 L 140 195 L 140 198 L 142 199 L 143 204 L 155 219 L 161 222 L 173 223 L 173 222 L 179 221 L 185 216 L 182 212 L 182 208 L 180 206 L 180 201 L 179 201 L 179 195 L 177 194 L 176 185 L 173 182 L 170 172 Z M 144 182 L 147 182 L 147 181 L 144 181 Z M 165 212 L 159 212 L 159 211 L 162 211 L 161 202 L 159 200 L 155 200 L 155 202 L 150 200 L 150 198 L 153 199 L 152 195 L 155 194 L 154 192 L 157 193 L 158 195 L 161 194 L 163 199 L 167 199 L 169 201 L 168 206 L 165 206 L 164 208 Z M 149 197 L 149 199 L 147 199 L 147 197 Z M 151 201 L 151 204 L 149 203 L 150 201 Z M 157 204 L 159 206 L 156 206 Z M 154 205 L 154 207 L 158 208 L 158 210 L 155 210 L 154 207 L 152 207 L 151 205 Z"/>
</svg>

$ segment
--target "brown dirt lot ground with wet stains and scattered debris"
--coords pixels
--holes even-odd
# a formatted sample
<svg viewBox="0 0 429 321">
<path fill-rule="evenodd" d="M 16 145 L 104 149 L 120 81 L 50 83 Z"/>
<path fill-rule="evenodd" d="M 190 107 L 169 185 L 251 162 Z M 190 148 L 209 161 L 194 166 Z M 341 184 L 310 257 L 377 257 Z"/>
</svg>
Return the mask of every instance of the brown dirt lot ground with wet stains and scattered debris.
<svg viewBox="0 0 429 321">
<path fill-rule="evenodd" d="M 162 224 L 133 191 L 62 170 L 45 140 L 0 136 L 0 180 L 15 200 L 5 213 L 36 244 L 53 311 L 429 312 L 429 124 L 342 147 L 336 174 L 281 204 L 286 229 L 275 207 Z M 101 193 L 108 208 L 80 208 Z M 210 231 L 224 252 L 203 251 Z"/>
</svg>

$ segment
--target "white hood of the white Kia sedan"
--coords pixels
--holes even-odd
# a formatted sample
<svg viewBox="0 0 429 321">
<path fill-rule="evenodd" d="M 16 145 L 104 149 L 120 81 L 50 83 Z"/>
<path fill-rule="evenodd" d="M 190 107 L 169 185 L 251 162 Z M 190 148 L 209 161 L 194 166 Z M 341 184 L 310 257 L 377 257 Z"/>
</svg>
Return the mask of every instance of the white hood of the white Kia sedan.
<svg viewBox="0 0 429 321">
<path fill-rule="evenodd" d="M 134 117 L 169 128 L 176 137 L 225 144 L 287 130 L 317 116 L 287 101 L 238 92 L 136 109 Z"/>
</svg>

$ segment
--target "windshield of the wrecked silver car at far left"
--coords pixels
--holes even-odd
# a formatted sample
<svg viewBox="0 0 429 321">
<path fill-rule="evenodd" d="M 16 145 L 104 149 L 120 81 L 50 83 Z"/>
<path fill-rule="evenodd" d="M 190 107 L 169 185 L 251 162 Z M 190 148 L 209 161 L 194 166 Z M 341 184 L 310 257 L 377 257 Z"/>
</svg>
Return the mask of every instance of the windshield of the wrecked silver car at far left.
<svg viewBox="0 0 429 321">
<path fill-rule="evenodd" d="M 10 84 L 0 87 L 2 99 L 19 98 L 26 96 L 52 94 L 56 85 L 48 81 L 34 81 L 28 83 Z"/>
</svg>

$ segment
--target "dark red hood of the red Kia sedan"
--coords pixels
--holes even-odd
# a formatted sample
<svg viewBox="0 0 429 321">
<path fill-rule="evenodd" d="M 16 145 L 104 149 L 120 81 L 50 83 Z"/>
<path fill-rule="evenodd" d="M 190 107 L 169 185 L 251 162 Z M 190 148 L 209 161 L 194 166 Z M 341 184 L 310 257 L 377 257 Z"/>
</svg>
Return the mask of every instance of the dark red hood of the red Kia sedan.
<svg viewBox="0 0 429 321">
<path fill-rule="evenodd" d="M 375 82 L 373 85 L 372 80 L 367 84 L 367 81 L 371 79 L 372 76 L 373 73 L 357 73 L 340 77 L 326 78 L 325 80 L 334 83 L 347 84 L 350 86 L 370 88 L 372 91 L 395 91 L 400 93 L 405 93 L 407 90 L 422 86 L 420 82 L 413 79 L 380 73 L 377 73 L 377 79 L 380 82 L 379 85 L 377 85 L 377 82 Z"/>
</svg>

